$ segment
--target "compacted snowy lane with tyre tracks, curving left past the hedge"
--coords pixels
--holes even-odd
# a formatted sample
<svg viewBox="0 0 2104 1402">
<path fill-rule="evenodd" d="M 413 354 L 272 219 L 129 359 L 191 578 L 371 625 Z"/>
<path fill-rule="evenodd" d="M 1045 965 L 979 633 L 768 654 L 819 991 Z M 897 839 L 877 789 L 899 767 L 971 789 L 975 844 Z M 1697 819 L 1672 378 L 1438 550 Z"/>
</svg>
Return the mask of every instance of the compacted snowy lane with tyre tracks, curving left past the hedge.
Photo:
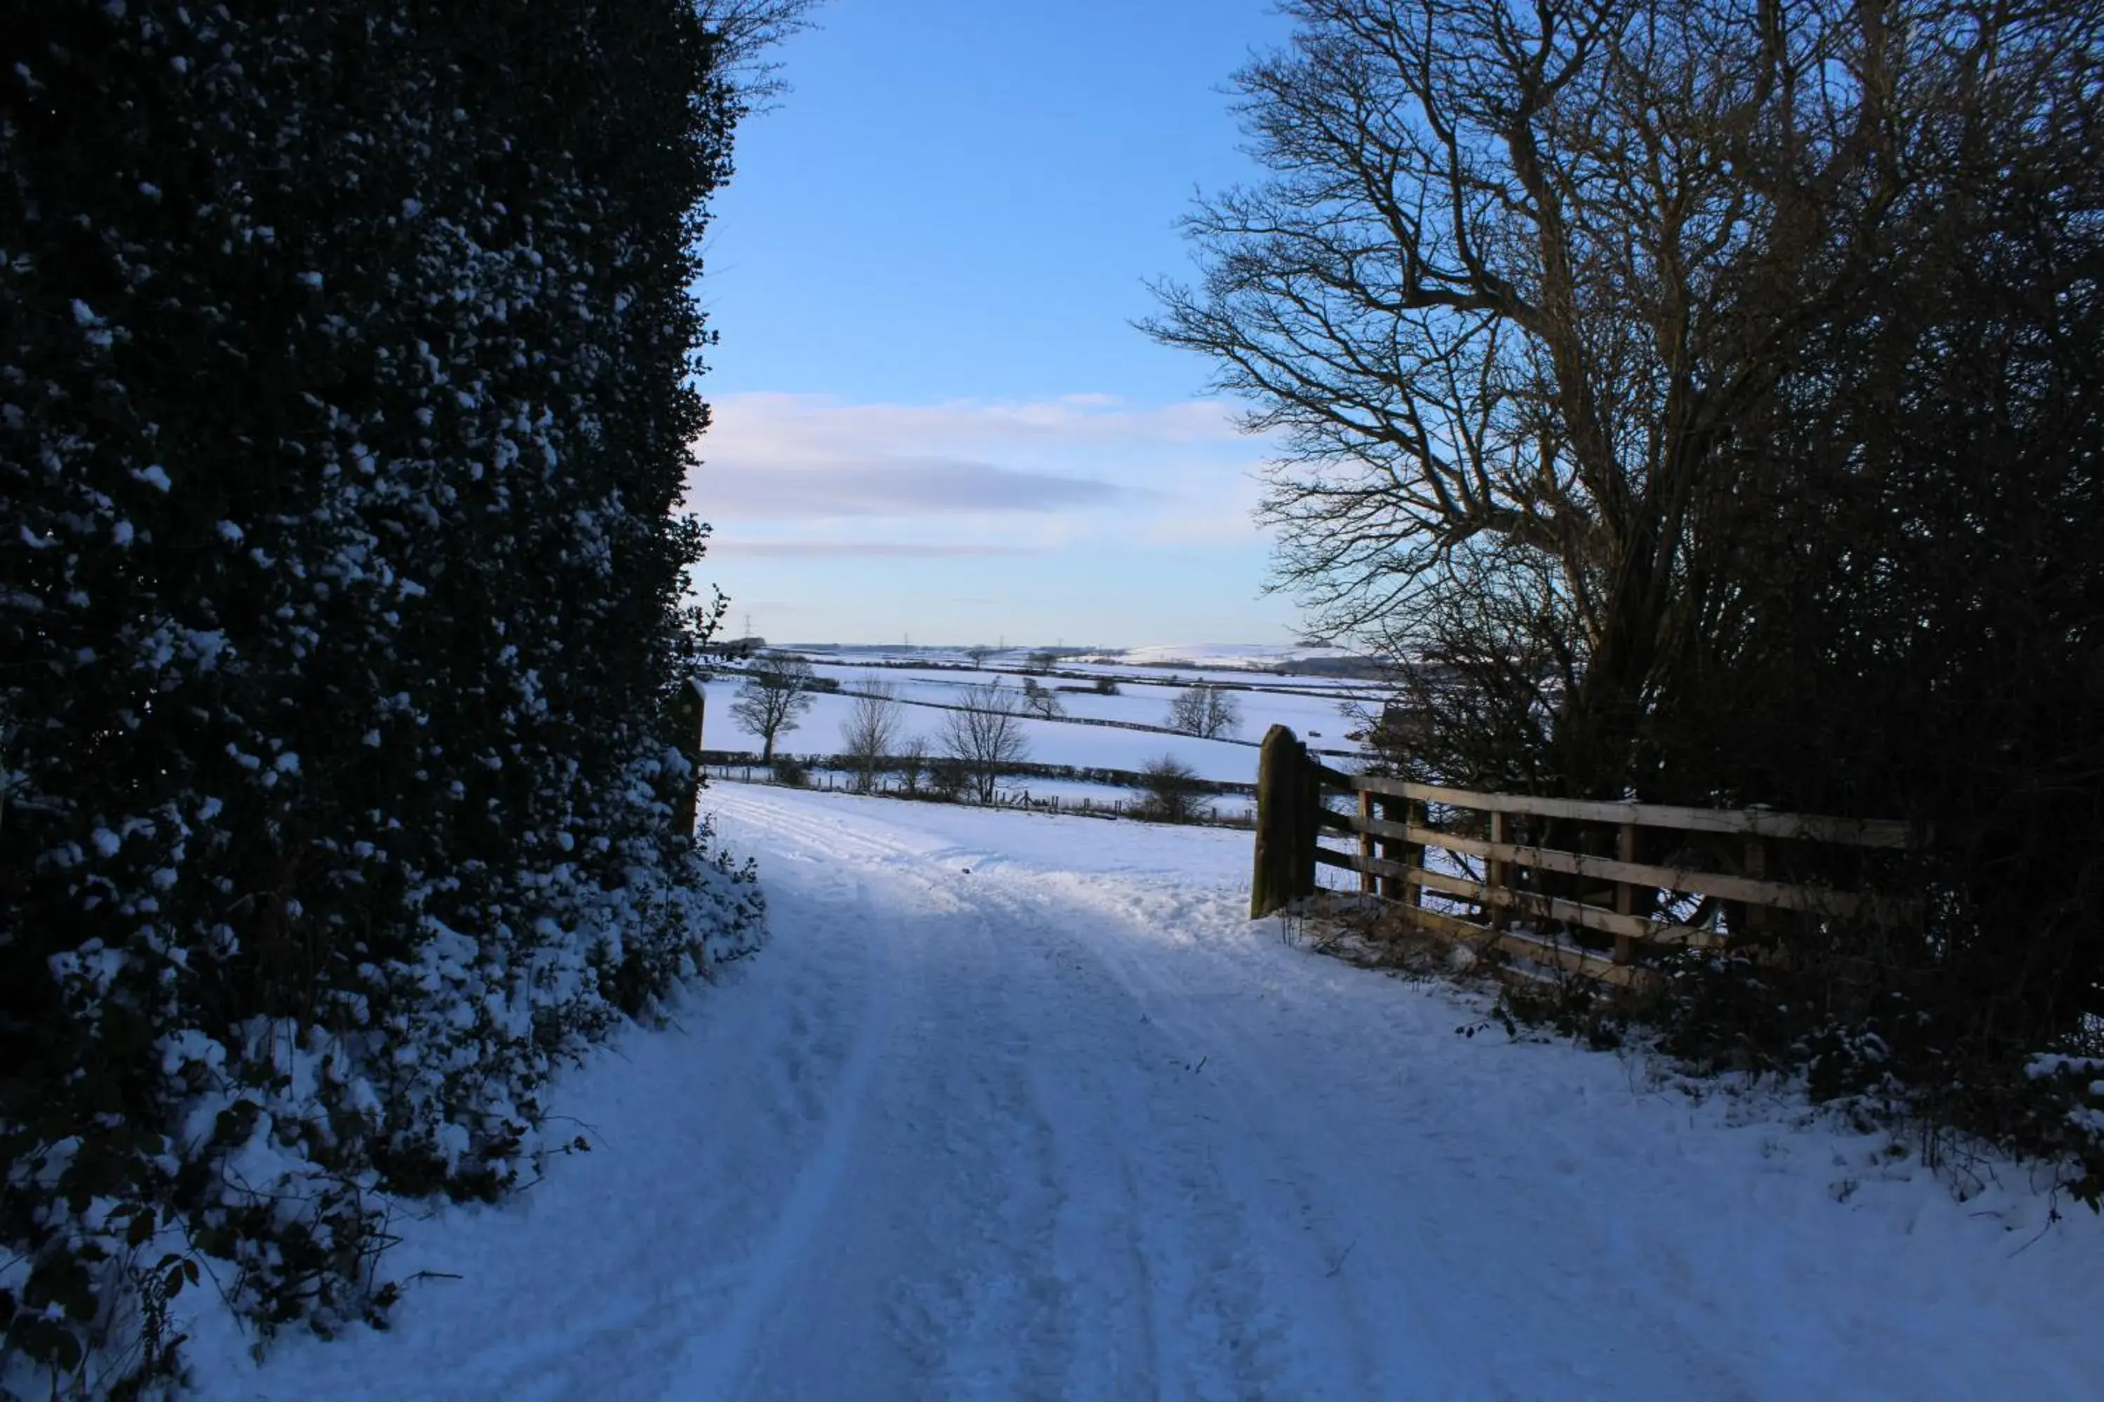
<svg viewBox="0 0 2104 1402">
<path fill-rule="evenodd" d="M 917 921 L 892 950 L 861 1192 L 766 1337 L 703 1343 L 709 1381 L 736 1385 L 694 1396 L 1319 1396 L 1275 1347 L 1290 1331 L 1248 1242 L 1298 1242 L 1250 1211 L 1231 1106 L 1058 904 L 983 845 L 720 801 L 795 891 L 778 929 L 865 929 L 871 898 Z M 863 877 L 846 893 L 785 881 L 789 862 Z"/>
</svg>

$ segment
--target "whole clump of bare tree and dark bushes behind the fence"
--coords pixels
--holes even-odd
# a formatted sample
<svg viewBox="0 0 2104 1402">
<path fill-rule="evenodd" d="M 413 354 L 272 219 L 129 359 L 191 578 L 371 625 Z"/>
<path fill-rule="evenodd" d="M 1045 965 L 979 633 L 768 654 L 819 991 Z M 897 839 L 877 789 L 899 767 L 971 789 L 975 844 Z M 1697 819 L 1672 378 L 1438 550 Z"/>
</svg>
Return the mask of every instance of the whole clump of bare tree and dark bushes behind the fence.
<svg viewBox="0 0 2104 1402">
<path fill-rule="evenodd" d="M 1239 76 L 1267 179 L 1151 330 L 1281 446 L 1313 624 L 1431 664 L 1397 763 L 1919 820 L 1927 919 L 1683 982 L 1715 1045 L 1875 1026 L 1858 1072 L 1931 1095 L 2098 1051 L 2104 13 L 1286 11 Z"/>
</svg>

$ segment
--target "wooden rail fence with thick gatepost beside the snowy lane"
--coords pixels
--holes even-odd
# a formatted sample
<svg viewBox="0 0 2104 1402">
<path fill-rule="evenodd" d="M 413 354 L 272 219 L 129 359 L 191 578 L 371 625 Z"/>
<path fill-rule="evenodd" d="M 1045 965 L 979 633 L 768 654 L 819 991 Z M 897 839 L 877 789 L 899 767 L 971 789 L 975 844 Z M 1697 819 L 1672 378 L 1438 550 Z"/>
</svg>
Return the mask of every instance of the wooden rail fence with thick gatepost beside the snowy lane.
<svg viewBox="0 0 2104 1402">
<path fill-rule="evenodd" d="M 1357 795 L 1355 811 L 1328 807 L 1326 792 Z M 1435 826 L 1433 807 L 1479 813 L 1481 822 L 1464 820 L 1462 826 L 1481 834 Z M 1532 841 L 1521 841 L 1521 828 Z M 1357 837 L 1357 849 L 1323 847 L 1317 841 L 1323 832 Z M 1563 841 L 1551 841 L 1555 837 Z M 1664 858 L 1643 860 L 1645 849 L 1668 847 L 1662 837 L 1677 845 Z M 1759 942 L 1774 931 L 1778 916 L 1772 912 L 1801 923 L 1917 919 L 1919 902 L 1830 881 L 1778 881 L 1769 872 L 1782 845 L 1910 851 L 1927 837 L 1913 824 L 1887 820 L 1546 799 L 1340 774 L 1309 755 L 1288 727 L 1273 725 L 1256 778 L 1250 916 L 1313 895 L 1317 866 L 1332 866 L 1355 872 L 1361 893 L 1395 902 L 1420 929 L 1635 986 L 1652 977 L 1643 950 Z M 1717 839 L 1738 841 L 1719 845 Z M 1610 841 L 1612 855 L 1589 851 Z M 1700 851 L 1690 853 L 1690 847 Z M 1431 851 L 1448 853 L 1439 866 L 1452 870 L 1433 866 Z M 1471 872 L 1471 862 L 1481 874 Z M 1738 870 L 1713 870 L 1717 864 Z M 1450 898 L 1450 908 L 1427 906 L 1427 893 Z M 1515 916 L 1534 927 L 1580 931 L 1578 942 L 1515 929 Z M 1612 937 L 1612 950 L 1586 948 L 1586 933 L 1599 942 Z"/>
</svg>

